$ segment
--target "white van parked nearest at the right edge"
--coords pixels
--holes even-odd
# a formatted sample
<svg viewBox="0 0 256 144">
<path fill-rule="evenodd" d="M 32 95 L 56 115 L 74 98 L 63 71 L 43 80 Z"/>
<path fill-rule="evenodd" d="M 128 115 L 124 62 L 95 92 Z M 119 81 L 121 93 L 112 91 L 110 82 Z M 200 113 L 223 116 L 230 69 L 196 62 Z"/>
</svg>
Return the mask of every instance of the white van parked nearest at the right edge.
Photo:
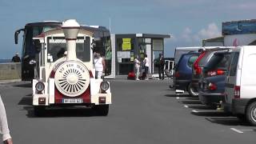
<svg viewBox="0 0 256 144">
<path fill-rule="evenodd" d="M 231 53 L 224 110 L 256 126 L 256 46 L 240 46 Z"/>
</svg>

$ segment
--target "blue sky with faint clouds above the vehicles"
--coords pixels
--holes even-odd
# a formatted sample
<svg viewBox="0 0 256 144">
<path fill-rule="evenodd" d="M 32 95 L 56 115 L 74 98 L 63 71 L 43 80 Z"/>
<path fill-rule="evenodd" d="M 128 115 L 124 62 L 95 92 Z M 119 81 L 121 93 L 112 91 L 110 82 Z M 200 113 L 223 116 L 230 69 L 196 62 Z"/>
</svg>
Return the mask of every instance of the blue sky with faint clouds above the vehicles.
<svg viewBox="0 0 256 144">
<path fill-rule="evenodd" d="M 170 34 L 165 57 L 177 46 L 202 46 L 221 36 L 222 22 L 256 18 L 255 0 L 0 0 L 0 59 L 22 52 L 14 31 L 29 22 L 77 19 L 89 26 L 110 27 L 112 34 Z"/>
</svg>

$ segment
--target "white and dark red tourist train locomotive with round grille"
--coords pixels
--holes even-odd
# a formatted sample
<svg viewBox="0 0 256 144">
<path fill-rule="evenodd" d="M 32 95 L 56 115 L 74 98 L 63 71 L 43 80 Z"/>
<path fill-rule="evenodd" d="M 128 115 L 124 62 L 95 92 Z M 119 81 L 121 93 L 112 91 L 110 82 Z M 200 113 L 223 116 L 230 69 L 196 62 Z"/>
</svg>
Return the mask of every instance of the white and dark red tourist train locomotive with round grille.
<svg viewBox="0 0 256 144">
<path fill-rule="evenodd" d="M 34 114 L 50 106 L 90 106 L 107 115 L 110 82 L 95 78 L 94 34 L 74 19 L 34 38 L 39 62 L 33 79 Z"/>
</svg>

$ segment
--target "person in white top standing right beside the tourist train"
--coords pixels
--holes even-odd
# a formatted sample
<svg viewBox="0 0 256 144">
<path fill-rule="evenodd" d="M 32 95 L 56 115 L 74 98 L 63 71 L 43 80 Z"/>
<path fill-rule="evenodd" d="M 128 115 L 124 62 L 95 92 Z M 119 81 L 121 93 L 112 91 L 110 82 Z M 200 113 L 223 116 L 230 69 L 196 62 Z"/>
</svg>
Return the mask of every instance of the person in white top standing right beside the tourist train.
<svg viewBox="0 0 256 144">
<path fill-rule="evenodd" d="M 101 54 L 96 53 L 94 58 L 94 67 L 95 67 L 95 78 L 102 78 L 103 71 L 105 69 L 105 61 L 101 57 Z"/>
</svg>

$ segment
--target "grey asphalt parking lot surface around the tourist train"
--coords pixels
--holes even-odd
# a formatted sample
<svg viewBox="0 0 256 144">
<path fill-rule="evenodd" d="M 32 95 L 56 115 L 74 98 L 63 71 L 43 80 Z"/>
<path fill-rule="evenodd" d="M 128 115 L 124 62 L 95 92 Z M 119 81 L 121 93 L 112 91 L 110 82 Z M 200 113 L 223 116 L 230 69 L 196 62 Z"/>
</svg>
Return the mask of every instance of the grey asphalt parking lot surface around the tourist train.
<svg viewBox="0 0 256 144">
<path fill-rule="evenodd" d="M 88 109 L 35 117 L 30 83 L 0 84 L 14 143 L 255 143 L 256 127 L 175 94 L 169 80 L 110 80 L 107 117 Z"/>
</svg>

